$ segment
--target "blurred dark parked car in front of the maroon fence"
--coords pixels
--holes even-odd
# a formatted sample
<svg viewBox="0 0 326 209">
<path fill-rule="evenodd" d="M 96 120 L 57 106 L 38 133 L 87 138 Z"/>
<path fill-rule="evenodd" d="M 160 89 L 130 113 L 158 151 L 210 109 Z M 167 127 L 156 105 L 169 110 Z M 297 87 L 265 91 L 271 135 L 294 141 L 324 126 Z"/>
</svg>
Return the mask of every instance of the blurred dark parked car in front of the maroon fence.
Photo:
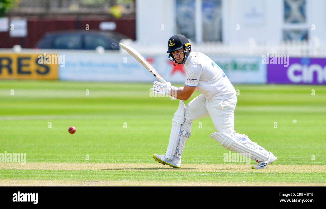
<svg viewBox="0 0 326 209">
<path fill-rule="evenodd" d="M 108 31 L 54 31 L 46 33 L 37 42 L 35 48 L 95 50 L 100 46 L 105 50 L 119 50 L 119 43 L 122 39 L 130 39 L 130 37 Z"/>
</svg>

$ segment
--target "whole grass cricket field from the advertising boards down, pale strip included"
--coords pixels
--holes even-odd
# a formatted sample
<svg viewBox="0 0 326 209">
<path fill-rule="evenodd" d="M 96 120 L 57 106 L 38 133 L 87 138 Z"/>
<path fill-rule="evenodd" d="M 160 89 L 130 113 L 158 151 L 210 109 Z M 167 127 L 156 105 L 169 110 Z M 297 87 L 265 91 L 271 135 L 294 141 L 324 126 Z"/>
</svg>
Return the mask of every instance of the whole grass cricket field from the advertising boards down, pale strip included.
<svg viewBox="0 0 326 209">
<path fill-rule="evenodd" d="M 234 85 L 236 132 L 278 157 L 264 170 L 251 170 L 253 160 L 224 161 L 229 150 L 209 137 L 209 117 L 193 121 L 181 169 L 156 162 L 178 100 L 150 97 L 151 87 L 0 80 L 0 153 L 26 153 L 25 165 L 0 162 L 0 186 L 326 186 L 326 86 Z"/>
</svg>

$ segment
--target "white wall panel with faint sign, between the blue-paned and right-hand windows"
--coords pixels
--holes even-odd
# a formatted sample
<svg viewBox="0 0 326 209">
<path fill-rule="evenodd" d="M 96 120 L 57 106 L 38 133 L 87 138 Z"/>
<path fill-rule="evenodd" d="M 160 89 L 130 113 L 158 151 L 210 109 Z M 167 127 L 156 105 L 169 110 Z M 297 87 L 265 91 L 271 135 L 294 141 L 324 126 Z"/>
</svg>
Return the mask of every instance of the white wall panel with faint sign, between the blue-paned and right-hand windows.
<svg viewBox="0 0 326 209">
<path fill-rule="evenodd" d="M 223 30 L 226 30 L 224 40 L 227 43 L 246 41 L 250 37 L 262 42 L 281 40 L 283 0 L 226 0 L 223 3 L 227 4 L 227 22 L 223 25 Z M 262 17 L 245 18 L 251 8 L 256 9 L 256 14 Z M 240 30 L 236 30 L 236 25 L 239 25 Z"/>
</svg>

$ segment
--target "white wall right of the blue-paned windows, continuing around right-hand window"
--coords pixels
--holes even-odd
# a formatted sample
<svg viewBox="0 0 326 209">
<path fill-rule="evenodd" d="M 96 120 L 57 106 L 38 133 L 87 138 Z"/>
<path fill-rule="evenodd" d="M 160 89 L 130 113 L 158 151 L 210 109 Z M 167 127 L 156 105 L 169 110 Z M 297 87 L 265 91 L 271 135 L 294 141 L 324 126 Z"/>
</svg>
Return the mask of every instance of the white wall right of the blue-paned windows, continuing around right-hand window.
<svg viewBox="0 0 326 209">
<path fill-rule="evenodd" d="M 308 38 L 313 36 L 326 40 L 326 1 L 307 0 L 306 1 L 306 23 L 286 24 L 284 23 L 284 0 L 223 0 L 224 16 L 223 25 L 224 41 L 235 43 L 246 41 L 252 37 L 258 42 L 279 42 L 283 40 L 284 28 L 308 29 Z M 250 8 L 256 9 L 256 13 L 262 12 L 263 18 L 245 18 L 245 13 Z M 256 22 L 255 22 L 256 21 Z M 240 30 L 236 30 L 236 25 L 240 25 Z M 315 31 L 311 30 L 311 25 L 315 24 Z"/>
</svg>

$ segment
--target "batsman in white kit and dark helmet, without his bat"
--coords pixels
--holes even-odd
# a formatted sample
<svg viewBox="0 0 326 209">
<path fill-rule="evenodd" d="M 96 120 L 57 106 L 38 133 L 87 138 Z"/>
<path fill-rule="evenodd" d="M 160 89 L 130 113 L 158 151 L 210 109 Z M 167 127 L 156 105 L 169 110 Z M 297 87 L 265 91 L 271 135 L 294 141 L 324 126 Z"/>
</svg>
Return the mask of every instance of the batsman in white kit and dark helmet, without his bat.
<svg viewBox="0 0 326 209">
<path fill-rule="evenodd" d="M 223 70 L 203 53 L 191 51 L 191 45 L 184 35 L 173 35 L 168 41 L 168 58 L 175 65 L 184 65 L 186 81 L 184 87 L 154 82 L 154 93 L 169 95 L 180 103 L 172 119 L 169 145 L 165 155 L 153 154 L 153 158 L 173 168 L 181 168 L 181 155 L 186 140 L 190 137 L 192 121 L 209 115 L 215 129 L 211 138 L 231 151 L 245 154 L 257 165 L 252 169 L 264 169 L 277 160 L 272 152 L 252 142 L 245 134 L 234 131 L 234 110 L 237 96 L 234 87 Z M 196 90 L 201 94 L 185 106 Z"/>
</svg>

